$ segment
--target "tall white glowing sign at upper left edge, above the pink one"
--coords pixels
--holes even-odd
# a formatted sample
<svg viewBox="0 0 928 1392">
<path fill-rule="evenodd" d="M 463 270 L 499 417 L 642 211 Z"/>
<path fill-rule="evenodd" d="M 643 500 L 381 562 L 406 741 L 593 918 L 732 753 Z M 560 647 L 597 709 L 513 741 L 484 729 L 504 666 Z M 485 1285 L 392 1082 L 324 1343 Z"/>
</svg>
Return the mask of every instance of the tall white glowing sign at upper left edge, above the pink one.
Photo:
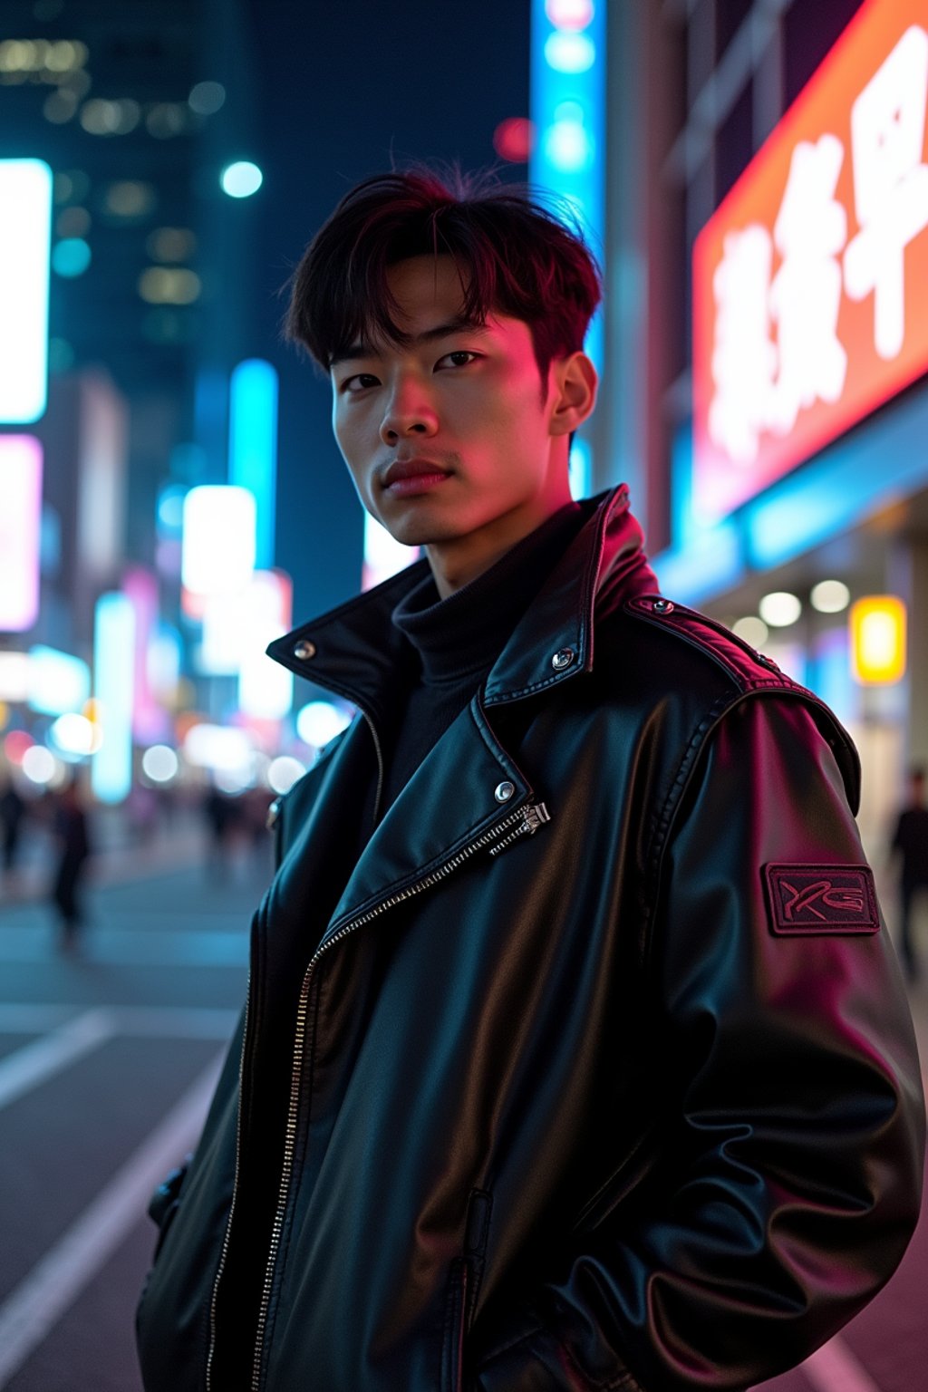
<svg viewBox="0 0 928 1392">
<path fill-rule="evenodd" d="M 51 170 L 0 160 L 0 422 L 31 425 L 49 390 Z"/>
</svg>

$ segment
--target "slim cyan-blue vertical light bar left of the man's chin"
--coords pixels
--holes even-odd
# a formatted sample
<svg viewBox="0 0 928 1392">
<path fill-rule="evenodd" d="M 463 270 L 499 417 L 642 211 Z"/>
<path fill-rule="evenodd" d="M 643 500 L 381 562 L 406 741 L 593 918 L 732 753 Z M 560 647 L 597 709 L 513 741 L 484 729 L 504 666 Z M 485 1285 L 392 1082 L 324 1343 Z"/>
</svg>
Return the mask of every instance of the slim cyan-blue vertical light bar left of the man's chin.
<svg viewBox="0 0 928 1392">
<path fill-rule="evenodd" d="M 234 369 L 231 388 L 228 482 L 255 494 L 255 564 L 267 571 L 274 564 L 277 373 L 269 362 L 248 358 Z"/>
</svg>

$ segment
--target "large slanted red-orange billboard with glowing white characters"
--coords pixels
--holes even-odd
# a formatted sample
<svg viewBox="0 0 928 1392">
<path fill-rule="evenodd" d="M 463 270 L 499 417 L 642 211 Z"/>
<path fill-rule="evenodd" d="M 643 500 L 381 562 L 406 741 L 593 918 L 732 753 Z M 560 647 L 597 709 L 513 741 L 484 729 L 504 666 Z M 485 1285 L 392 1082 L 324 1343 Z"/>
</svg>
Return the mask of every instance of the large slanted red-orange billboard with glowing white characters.
<svg viewBox="0 0 928 1392">
<path fill-rule="evenodd" d="M 868 0 L 693 252 L 694 511 L 928 372 L 928 4 Z"/>
</svg>

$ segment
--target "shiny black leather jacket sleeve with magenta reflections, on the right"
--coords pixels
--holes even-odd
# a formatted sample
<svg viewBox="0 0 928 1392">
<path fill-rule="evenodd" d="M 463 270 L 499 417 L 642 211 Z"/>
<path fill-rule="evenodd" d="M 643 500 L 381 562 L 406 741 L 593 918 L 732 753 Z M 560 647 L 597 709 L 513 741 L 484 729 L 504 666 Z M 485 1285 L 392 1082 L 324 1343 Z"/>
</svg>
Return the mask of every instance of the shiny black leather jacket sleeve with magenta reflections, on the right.
<svg viewBox="0 0 928 1392">
<path fill-rule="evenodd" d="M 746 1389 L 892 1275 L 924 1153 L 893 949 L 885 926 L 822 931 L 814 909 L 779 931 L 765 876 L 864 863 L 808 706 L 732 709 L 664 852 L 650 948 L 659 1154 L 484 1346 L 480 1392 Z"/>
</svg>

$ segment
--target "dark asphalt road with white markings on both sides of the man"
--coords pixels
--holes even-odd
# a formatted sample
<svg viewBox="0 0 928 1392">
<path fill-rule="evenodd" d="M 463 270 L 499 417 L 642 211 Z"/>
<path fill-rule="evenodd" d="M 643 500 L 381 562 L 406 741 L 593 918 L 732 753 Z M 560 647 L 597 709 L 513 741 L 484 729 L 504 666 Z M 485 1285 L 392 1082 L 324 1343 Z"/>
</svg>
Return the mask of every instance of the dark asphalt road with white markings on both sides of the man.
<svg viewBox="0 0 928 1392">
<path fill-rule="evenodd" d="M 0 903 L 0 1388 L 141 1392 L 142 1215 L 198 1134 L 269 874 L 266 862 L 221 877 L 139 863 L 93 889 L 74 956 L 45 905 Z M 913 1005 L 924 1059 L 928 988 Z M 868 1310 L 764 1392 L 928 1389 L 927 1285 L 922 1221 Z"/>
</svg>

